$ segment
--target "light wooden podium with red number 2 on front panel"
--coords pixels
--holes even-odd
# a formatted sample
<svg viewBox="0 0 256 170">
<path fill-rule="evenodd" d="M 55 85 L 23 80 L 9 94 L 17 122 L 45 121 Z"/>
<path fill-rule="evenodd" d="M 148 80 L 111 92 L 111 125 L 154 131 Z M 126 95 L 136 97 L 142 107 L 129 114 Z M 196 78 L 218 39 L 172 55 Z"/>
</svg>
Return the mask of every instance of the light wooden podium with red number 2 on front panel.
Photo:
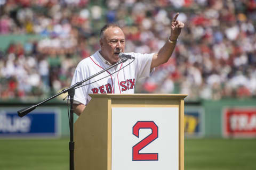
<svg viewBox="0 0 256 170">
<path fill-rule="evenodd" d="M 91 94 L 74 126 L 75 169 L 184 169 L 184 98 Z"/>
</svg>

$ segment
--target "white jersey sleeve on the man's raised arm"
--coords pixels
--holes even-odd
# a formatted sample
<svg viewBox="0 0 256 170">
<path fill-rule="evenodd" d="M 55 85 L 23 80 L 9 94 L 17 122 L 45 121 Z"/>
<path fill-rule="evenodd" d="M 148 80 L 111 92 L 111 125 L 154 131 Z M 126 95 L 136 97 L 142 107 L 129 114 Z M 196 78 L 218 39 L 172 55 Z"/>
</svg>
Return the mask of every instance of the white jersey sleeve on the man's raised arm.
<svg viewBox="0 0 256 170">
<path fill-rule="evenodd" d="M 140 54 L 140 53 L 134 53 L 135 57 L 135 67 L 136 67 L 136 74 L 137 78 L 144 78 L 144 77 L 149 77 L 150 73 L 150 67 L 151 67 L 151 62 L 153 58 L 154 53 L 151 54 Z"/>
</svg>

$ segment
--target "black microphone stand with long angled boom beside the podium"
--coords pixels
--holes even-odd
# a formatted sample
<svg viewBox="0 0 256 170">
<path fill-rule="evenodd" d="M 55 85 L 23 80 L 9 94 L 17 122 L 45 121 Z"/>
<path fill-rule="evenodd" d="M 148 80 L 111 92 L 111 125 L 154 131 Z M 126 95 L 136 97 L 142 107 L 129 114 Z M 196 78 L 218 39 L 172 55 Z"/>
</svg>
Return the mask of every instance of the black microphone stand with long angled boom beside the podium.
<svg viewBox="0 0 256 170">
<path fill-rule="evenodd" d="M 46 101 L 49 101 L 61 94 L 65 94 L 66 92 L 68 92 L 68 95 L 70 96 L 70 123 L 69 123 L 69 129 L 70 129 L 70 141 L 69 141 L 69 169 L 70 170 L 74 170 L 74 150 L 75 150 L 75 142 L 74 142 L 74 111 L 73 111 L 73 102 L 74 102 L 74 95 L 75 95 L 75 88 L 78 86 L 81 86 L 84 82 L 96 77 L 97 75 L 112 69 L 113 67 L 117 66 L 118 64 L 124 63 L 128 60 L 128 58 L 121 58 L 121 60 L 119 62 L 117 62 L 114 65 L 111 65 L 109 67 L 107 67 L 106 69 L 92 75 L 91 77 L 84 79 L 80 82 L 77 82 L 76 84 L 74 84 L 73 86 L 70 86 L 67 89 L 63 89 L 61 92 L 59 92 L 58 94 L 49 97 L 47 99 L 45 99 L 44 101 L 41 101 L 40 103 L 33 105 L 33 106 L 29 106 L 26 108 L 21 109 L 20 111 L 18 111 L 18 115 L 20 117 L 23 117 L 25 115 L 27 115 L 29 112 L 33 111 L 37 106 L 40 106 L 42 104 L 44 104 Z"/>
</svg>

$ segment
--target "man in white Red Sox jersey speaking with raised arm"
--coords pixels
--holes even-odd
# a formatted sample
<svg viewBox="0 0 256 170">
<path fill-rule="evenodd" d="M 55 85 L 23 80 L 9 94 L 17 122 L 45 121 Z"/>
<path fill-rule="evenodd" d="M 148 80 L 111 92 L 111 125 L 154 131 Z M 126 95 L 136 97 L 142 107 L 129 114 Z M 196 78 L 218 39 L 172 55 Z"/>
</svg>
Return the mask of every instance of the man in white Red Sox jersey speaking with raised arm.
<svg viewBox="0 0 256 170">
<path fill-rule="evenodd" d="M 86 81 L 75 90 L 74 112 L 80 115 L 91 100 L 88 94 L 133 94 L 137 79 L 149 77 L 153 69 L 166 63 L 171 57 L 184 23 L 177 20 L 177 13 L 171 24 L 171 34 L 166 43 L 153 54 L 123 53 L 125 36 L 116 24 L 107 24 L 100 31 L 100 47 L 96 53 L 85 58 L 76 67 L 71 86 L 115 64 L 122 56 L 131 56 L 134 60 L 121 63 Z M 84 85 L 83 84 L 83 85 Z"/>
</svg>

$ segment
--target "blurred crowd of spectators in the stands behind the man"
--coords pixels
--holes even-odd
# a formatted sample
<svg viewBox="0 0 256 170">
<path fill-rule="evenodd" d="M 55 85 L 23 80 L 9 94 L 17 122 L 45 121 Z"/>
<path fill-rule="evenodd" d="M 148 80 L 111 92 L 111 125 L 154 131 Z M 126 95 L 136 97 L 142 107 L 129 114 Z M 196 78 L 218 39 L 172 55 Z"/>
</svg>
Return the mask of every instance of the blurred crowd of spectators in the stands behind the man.
<svg viewBox="0 0 256 170">
<path fill-rule="evenodd" d="M 0 0 L 0 9 L 0 37 L 41 37 L 0 50 L 1 99 L 69 87 L 77 63 L 100 48 L 106 23 L 123 28 L 125 52 L 158 52 L 176 12 L 185 28 L 172 58 L 136 91 L 191 100 L 256 96 L 255 0 Z"/>
</svg>

